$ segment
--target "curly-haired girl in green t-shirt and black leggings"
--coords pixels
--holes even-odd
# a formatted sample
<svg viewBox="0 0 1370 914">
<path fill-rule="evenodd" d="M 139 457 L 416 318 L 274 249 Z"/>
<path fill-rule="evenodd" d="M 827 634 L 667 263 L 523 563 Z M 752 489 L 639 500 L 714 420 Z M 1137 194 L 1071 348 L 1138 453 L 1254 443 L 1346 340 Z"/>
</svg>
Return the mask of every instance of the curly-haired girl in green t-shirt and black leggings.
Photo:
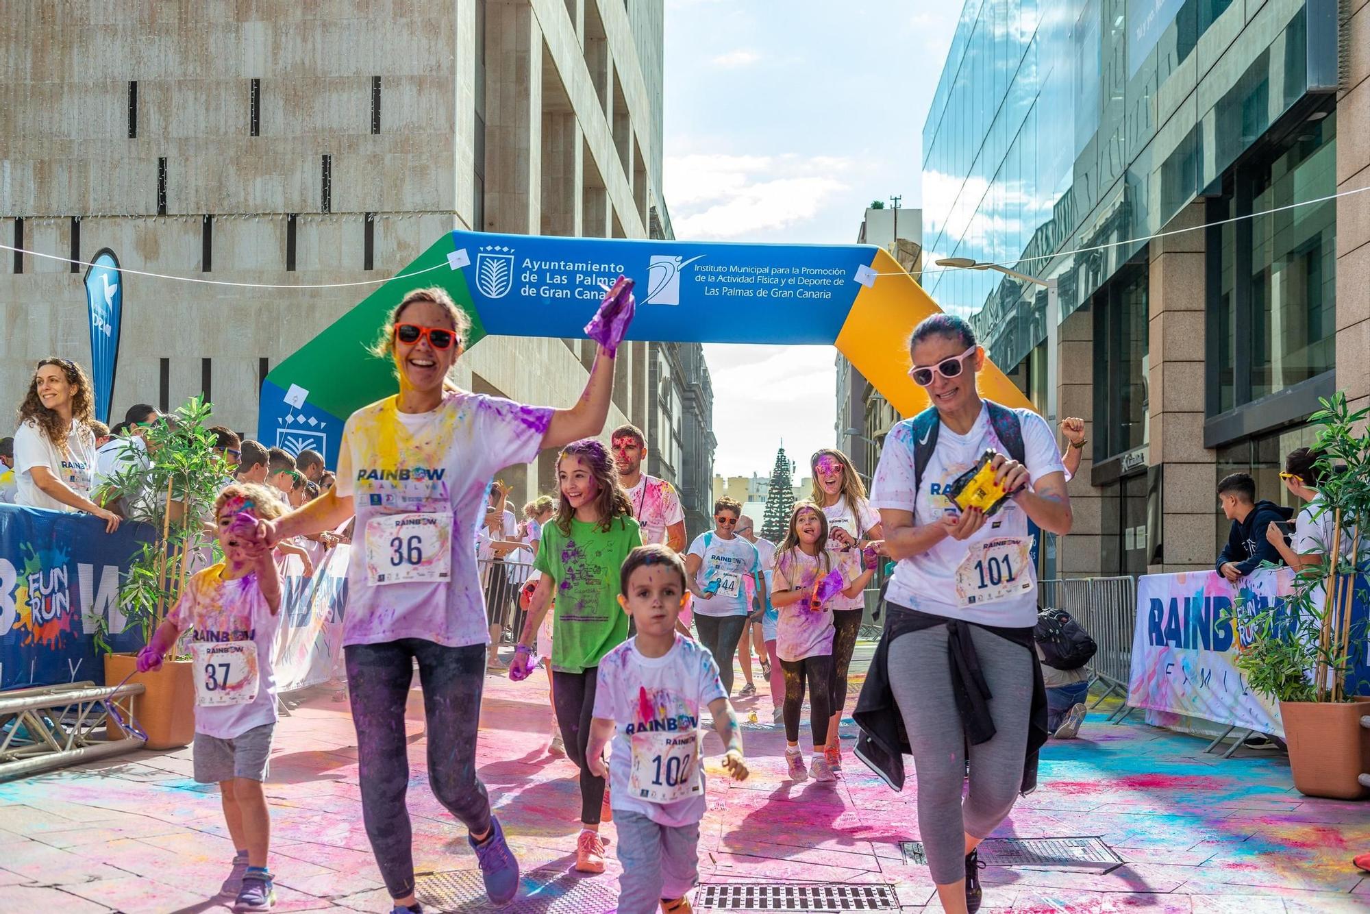
<svg viewBox="0 0 1370 914">
<path fill-rule="evenodd" d="M 619 569 L 627 554 L 643 544 L 643 537 L 603 444 L 593 439 L 567 444 L 556 458 L 556 480 L 560 506 L 543 528 L 543 543 L 533 562 L 543 577 L 533 591 L 510 677 L 522 680 L 532 670 L 533 639 L 555 595 L 552 703 L 566 754 L 581 769 L 575 869 L 603 873 L 599 824 L 608 821 L 611 813 L 604 778 L 590 773 L 585 747 L 600 658 L 627 639 L 627 614 L 618 606 Z"/>
</svg>

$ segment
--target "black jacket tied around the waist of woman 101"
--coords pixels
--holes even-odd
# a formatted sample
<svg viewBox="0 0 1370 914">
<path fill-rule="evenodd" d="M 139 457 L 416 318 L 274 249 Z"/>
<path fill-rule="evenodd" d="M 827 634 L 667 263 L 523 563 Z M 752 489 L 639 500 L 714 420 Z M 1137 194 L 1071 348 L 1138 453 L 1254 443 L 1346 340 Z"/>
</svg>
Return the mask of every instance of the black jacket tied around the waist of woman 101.
<svg viewBox="0 0 1370 914">
<path fill-rule="evenodd" d="M 945 615 L 932 615 L 910 610 L 897 603 L 888 603 L 885 633 L 875 647 L 866 682 L 852 718 L 860 728 L 856 737 L 856 758 L 864 762 L 875 774 L 896 791 L 904 789 L 904 755 L 911 755 L 908 734 L 904 732 L 904 717 L 899 713 L 895 693 L 889 688 L 889 644 L 901 634 L 922 632 L 936 625 L 947 626 L 947 660 L 951 665 L 952 695 L 956 711 L 960 714 L 966 739 L 973 744 L 985 743 L 995 736 L 995 722 L 989 715 L 989 685 L 985 682 L 980 656 L 971 640 L 970 626 L 975 622 L 952 619 Z M 1041 681 L 1041 667 L 1033 651 L 1032 626 L 999 628 L 978 625 L 992 634 L 1022 645 L 1032 655 L 1033 687 L 1030 721 L 1028 728 L 1028 752 L 1023 756 L 1023 780 L 1019 791 L 1030 793 L 1037 788 L 1037 752 L 1047 743 L 1047 688 Z"/>
</svg>

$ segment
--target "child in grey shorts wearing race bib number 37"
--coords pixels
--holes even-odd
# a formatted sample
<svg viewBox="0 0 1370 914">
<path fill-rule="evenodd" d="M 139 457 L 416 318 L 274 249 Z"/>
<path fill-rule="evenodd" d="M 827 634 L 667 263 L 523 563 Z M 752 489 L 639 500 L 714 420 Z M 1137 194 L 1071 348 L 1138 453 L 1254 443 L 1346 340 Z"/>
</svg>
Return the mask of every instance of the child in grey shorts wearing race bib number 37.
<svg viewBox="0 0 1370 914">
<path fill-rule="evenodd" d="M 275 904 L 266 867 L 271 839 L 262 782 L 275 730 L 271 645 L 281 625 L 281 577 L 271 549 L 249 543 L 252 519 L 273 519 L 285 504 L 263 485 L 236 482 L 214 503 L 223 562 L 199 571 L 152 640 L 138 652 L 138 671 L 162 666 L 186 629 L 195 655 L 195 780 L 219 784 L 223 818 L 237 856 L 221 896 L 234 911 Z"/>
</svg>

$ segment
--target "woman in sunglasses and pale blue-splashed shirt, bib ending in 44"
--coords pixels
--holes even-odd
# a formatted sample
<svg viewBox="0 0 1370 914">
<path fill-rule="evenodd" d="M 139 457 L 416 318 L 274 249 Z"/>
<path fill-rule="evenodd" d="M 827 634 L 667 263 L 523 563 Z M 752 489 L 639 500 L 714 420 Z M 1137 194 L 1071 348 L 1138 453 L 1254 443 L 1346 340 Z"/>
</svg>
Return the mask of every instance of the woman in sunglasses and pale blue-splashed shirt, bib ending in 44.
<svg viewBox="0 0 1370 914">
<path fill-rule="evenodd" d="M 714 529 L 700 533 L 685 556 L 690 592 L 695 595 L 695 629 L 700 643 L 718 662 L 723 691 L 733 693 L 733 654 L 751 614 L 751 595 L 744 578 L 762 571 L 756 547 L 737 536 L 743 504 L 726 495 L 714 503 Z M 756 599 L 766 604 L 766 580 L 756 578 Z"/>
</svg>

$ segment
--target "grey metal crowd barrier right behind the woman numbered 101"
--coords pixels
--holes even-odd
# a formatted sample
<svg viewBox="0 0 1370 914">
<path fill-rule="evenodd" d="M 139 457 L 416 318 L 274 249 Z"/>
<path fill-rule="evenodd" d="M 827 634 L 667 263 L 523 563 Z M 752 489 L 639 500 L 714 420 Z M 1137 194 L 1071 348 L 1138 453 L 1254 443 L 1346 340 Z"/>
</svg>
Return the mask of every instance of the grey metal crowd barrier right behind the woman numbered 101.
<svg viewBox="0 0 1370 914">
<path fill-rule="evenodd" d="M 1123 706 L 1115 713 L 1114 722 L 1121 722 L 1133 710 L 1128 707 L 1128 680 L 1132 676 L 1132 637 L 1137 628 L 1137 578 L 1123 574 L 1038 581 L 1037 600 L 1041 608 L 1070 613 L 1089 632 L 1099 647 L 1089 663 L 1091 673 L 1107 687 L 1093 707 L 1118 693 Z"/>
</svg>

